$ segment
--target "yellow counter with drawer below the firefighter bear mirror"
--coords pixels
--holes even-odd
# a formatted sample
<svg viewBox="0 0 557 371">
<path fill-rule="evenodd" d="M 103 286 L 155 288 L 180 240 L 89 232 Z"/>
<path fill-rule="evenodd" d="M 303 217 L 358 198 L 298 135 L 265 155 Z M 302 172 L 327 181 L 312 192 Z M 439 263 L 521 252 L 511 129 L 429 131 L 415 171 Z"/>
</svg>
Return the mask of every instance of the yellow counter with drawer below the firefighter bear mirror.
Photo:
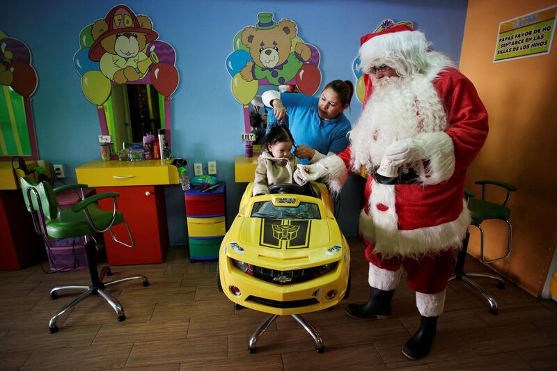
<svg viewBox="0 0 557 371">
<path fill-rule="evenodd" d="M 178 170 L 169 160 L 100 161 L 75 168 L 77 181 L 90 187 L 179 184 Z"/>
</svg>

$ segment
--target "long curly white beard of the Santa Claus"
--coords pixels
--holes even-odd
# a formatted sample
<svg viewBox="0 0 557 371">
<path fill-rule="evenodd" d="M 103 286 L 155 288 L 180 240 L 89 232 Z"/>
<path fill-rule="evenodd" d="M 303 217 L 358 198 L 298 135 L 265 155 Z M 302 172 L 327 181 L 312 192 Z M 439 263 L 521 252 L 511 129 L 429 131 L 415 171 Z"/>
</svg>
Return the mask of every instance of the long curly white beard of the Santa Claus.
<svg viewBox="0 0 557 371">
<path fill-rule="evenodd" d="M 350 132 L 354 171 L 379 165 L 395 141 L 448 127 L 439 95 L 427 77 L 370 77 L 372 95 Z"/>
</svg>

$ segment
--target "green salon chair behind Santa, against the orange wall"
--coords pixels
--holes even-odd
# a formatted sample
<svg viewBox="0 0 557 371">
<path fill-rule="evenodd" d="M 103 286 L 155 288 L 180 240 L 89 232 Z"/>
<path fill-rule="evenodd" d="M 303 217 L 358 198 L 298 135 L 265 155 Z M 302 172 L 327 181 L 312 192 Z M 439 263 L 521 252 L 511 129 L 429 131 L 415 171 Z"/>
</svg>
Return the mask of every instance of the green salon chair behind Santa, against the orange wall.
<svg viewBox="0 0 557 371">
<path fill-rule="evenodd" d="M 517 187 L 505 182 L 497 182 L 496 180 L 478 180 L 477 182 L 475 182 L 475 184 L 480 184 L 482 186 L 481 200 L 475 198 L 476 195 L 468 189 L 464 190 L 464 197 L 466 198 L 468 209 L 470 210 L 470 214 L 472 217 L 471 226 L 475 226 L 476 228 L 478 228 L 478 230 L 480 230 L 480 259 L 484 264 L 492 264 L 494 262 L 498 262 L 499 260 L 508 258 L 512 250 L 512 224 L 509 221 L 510 209 L 506 206 L 506 204 L 508 203 L 511 192 L 517 191 Z M 485 200 L 485 191 L 487 185 L 506 189 L 507 195 L 505 196 L 505 200 L 503 200 L 503 203 L 493 203 Z M 505 253 L 505 255 L 502 255 L 499 258 L 486 260 L 484 254 L 484 230 L 481 224 L 483 223 L 483 221 L 489 219 L 498 219 L 507 223 L 508 239 L 507 252 Z M 497 315 L 497 313 L 499 313 L 499 306 L 497 305 L 497 301 L 485 290 L 483 290 L 482 287 L 471 281 L 470 277 L 493 278 L 494 280 L 499 281 L 497 283 L 497 287 L 501 290 L 505 288 L 505 281 L 503 281 L 503 278 L 501 278 L 501 276 L 497 274 L 464 272 L 464 262 L 466 260 L 466 251 L 468 249 L 469 238 L 470 232 L 466 230 L 466 237 L 464 237 L 464 241 L 462 242 L 462 249 L 459 251 L 457 261 L 455 263 L 454 274 L 449 278 L 448 281 L 456 280 L 468 283 L 471 287 L 478 290 L 480 294 L 482 294 L 482 296 L 485 297 L 485 299 L 489 302 L 489 313 L 491 313 L 492 315 Z"/>
</svg>

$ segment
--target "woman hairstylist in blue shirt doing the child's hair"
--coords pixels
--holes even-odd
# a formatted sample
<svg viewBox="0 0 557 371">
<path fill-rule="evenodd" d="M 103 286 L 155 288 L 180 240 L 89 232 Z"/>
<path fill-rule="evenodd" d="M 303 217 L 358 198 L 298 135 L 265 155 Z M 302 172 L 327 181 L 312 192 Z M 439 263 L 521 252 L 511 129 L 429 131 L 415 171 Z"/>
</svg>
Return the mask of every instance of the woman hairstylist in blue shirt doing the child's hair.
<svg viewBox="0 0 557 371">
<path fill-rule="evenodd" d="M 352 93 L 352 82 L 334 80 L 318 98 L 269 90 L 263 93 L 262 100 L 265 106 L 273 107 L 279 121 L 288 111 L 290 132 L 301 144 L 295 155 L 302 164 L 308 164 L 307 160 L 317 161 L 329 152 L 338 153 L 347 147 L 346 134 L 351 126 L 343 111 L 350 105 Z"/>
</svg>

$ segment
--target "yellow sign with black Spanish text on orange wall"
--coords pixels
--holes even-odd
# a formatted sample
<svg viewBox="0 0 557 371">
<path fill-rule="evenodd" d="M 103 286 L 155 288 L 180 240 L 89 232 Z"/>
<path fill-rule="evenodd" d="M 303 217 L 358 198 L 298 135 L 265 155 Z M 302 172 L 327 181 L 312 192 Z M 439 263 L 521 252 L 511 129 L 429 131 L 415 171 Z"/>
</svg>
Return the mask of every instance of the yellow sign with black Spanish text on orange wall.
<svg viewBox="0 0 557 371">
<path fill-rule="evenodd" d="M 557 6 L 508 19 L 499 24 L 493 62 L 542 56 L 551 52 Z"/>
</svg>

